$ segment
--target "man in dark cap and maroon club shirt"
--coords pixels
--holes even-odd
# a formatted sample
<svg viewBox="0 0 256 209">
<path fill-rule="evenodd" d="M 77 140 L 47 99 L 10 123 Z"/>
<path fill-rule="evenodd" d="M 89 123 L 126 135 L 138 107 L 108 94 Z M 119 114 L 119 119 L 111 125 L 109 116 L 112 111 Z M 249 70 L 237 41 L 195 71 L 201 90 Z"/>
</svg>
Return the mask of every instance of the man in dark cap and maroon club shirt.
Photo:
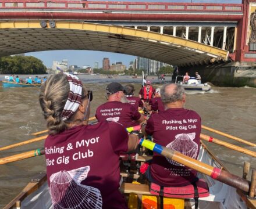
<svg viewBox="0 0 256 209">
<path fill-rule="evenodd" d="M 99 106 L 95 117 L 98 121 L 119 122 L 123 127 L 134 127 L 144 121 L 144 116 L 130 103 L 123 103 L 126 99 L 125 88 L 118 82 L 112 82 L 106 87 L 108 102 Z"/>
</svg>

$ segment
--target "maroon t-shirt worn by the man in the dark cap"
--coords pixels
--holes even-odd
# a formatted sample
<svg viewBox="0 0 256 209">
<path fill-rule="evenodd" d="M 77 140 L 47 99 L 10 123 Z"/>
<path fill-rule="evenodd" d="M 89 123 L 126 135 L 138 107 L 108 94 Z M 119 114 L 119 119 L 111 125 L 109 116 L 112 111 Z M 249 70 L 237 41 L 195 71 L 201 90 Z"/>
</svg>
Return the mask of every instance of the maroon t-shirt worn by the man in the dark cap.
<svg viewBox="0 0 256 209">
<path fill-rule="evenodd" d="M 129 103 L 113 101 L 99 106 L 95 117 L 98 121 L 119 122 L 123 127 L 128 128 L 139 125 L 136 121 L 140 119 L 141 114 L 138 112 L 138 109 Z"/>
</svg>

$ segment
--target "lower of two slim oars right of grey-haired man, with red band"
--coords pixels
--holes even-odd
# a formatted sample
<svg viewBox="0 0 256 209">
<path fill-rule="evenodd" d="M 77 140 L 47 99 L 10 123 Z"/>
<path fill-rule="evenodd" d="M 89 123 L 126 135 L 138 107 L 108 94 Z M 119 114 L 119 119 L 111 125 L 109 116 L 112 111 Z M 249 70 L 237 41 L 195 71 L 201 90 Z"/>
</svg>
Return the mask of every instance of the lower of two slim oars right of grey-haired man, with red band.
<svg viewBox="0 0 256 209">
<path fill-rule="evenodd" d="M 207 142 L 216 143 L 217 145 L 222 145 L 222 146 L 225 146 L 227 148 L 236 150 L 237 152 L 241 152 L 241 153 L 248 154 L 250 156 L 256 157 L 256 152 L 253 152 L 253 151 L 248 150 L 248 149 L 244 149 L 243 147 L 232 145 L 232 144 L 227 143 L 227 142 L 223 142 L 222 140 L 212 138 L 211 136 L 207 136 L 205 134 L 200 134 L 200 138 L 203 139 L 203 140 L 207 140 Z"/>
</svg>

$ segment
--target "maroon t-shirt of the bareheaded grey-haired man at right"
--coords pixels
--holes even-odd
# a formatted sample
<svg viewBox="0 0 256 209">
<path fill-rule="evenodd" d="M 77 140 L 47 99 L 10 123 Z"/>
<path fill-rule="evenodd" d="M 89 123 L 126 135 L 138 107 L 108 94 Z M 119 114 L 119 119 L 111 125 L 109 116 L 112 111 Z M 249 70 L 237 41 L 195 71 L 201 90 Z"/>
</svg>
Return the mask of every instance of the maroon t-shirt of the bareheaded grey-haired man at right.
<svg viewBox="0 0 256 209">
<path fill-rule="evenodd" d="M 154 142 L 197 158 L 200 150 L 201 118 L 193 110 L 168 109 L 150 117 L 145 127 Z M 195 178 L 197 171 L 154 153 L 150 166 L 152 177 L 162 186 L 184 186 Z"/>
</svg>

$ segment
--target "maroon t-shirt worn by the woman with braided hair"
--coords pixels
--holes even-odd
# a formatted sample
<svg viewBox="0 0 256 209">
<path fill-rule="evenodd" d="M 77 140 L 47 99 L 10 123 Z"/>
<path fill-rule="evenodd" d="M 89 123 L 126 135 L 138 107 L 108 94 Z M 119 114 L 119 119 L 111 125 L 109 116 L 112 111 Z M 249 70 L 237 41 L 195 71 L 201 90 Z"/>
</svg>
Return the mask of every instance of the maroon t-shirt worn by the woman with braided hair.
<svg viewBox="0 0 256 209">
<path fill-rule="evenodd" d="M 127 149 L 126 129 L 116 122 L 49 135 L 45 158 L 55 208 L 127 208 L 119 192 L 119 153 Z"/>
</svg>

